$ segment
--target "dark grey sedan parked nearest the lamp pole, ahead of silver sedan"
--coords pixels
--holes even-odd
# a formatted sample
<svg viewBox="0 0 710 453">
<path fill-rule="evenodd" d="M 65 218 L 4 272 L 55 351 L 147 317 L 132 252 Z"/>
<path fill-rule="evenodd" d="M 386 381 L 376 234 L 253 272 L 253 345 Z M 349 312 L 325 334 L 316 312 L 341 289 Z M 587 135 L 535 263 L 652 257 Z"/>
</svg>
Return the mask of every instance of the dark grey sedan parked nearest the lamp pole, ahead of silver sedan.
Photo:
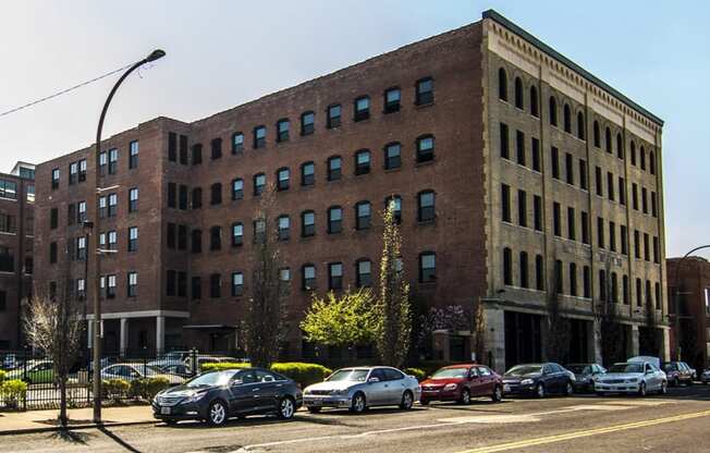
<svg viewBox="0 0 710 453">
<path fill-rule="evenodd" d="M 166 423 L 206 420 L 224 425 L 230 417 L 277 414 L 292 418 L 303 404 L 296 382 L 261 368 L 208 371 L 163 390 L 152 401 L 154 417 Z"/>
</svg>

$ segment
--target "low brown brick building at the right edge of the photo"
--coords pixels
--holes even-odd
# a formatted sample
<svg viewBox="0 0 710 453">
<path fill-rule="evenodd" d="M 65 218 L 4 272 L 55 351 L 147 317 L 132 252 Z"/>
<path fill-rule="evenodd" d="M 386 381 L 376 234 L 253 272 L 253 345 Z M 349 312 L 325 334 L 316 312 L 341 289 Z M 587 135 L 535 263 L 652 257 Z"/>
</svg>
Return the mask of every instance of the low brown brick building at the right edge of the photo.
<svg viewBox="0 0 710 453">
<path fill-rule="evenodd" d="M 699 256 L 666 262 L 671 357 L 699 371 L 710 365 L 710 262 Z"/>
</svg>

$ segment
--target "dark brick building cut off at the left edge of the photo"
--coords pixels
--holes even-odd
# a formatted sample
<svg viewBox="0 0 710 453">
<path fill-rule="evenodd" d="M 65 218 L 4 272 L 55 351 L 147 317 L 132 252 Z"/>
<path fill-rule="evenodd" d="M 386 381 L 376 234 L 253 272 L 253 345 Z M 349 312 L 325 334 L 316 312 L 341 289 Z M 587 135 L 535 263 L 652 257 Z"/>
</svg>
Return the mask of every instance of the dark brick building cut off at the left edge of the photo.
<svg viewBox="0 0 710 453">
<path fill-rule="evenodd" d="M 22 301 L 32 293 L 35 166 L 0 173 L 0 351 L 24 346 Z"/>
</svg>

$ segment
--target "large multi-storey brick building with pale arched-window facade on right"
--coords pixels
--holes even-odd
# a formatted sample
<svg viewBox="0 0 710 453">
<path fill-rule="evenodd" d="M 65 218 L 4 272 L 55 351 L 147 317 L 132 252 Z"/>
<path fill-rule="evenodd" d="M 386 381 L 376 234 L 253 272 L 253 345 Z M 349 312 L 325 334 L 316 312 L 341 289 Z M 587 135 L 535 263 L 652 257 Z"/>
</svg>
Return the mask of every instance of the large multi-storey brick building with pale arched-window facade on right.
<svg viewBox="0 0 710 453">
<path fill-rule="evenodd" d="M 69 268 L 84 287 L 81 260 L 49 258 L 68 241 L 84 256 L 99 164 L 99 185 L 114 187 L 100 200 L 102 248 L 118 249 L 102 258 L 107 347 L 234 347 L 259 193 L 277 184 L 268 228 L 287 236 L 285 348 L 308 355 L 297 326 L 309 294 L 377 282 L 378 212 L 395 197 L 415 298 L 483 304 L 497 368 L 544 355 L 553 274 L 571 359 L 599 356 L 592 301 L 608 289 L 635 353 L 641 301 L 665 314 L 661 127 L 488 11 L 204 120 L 155 119 L 107 139 L 98 159 L 86 148 L 40 164 L 37 268 L 50 280 Z M 434 355 L 462 359 L 470 343 L 444 329 Z"/>
</svg>

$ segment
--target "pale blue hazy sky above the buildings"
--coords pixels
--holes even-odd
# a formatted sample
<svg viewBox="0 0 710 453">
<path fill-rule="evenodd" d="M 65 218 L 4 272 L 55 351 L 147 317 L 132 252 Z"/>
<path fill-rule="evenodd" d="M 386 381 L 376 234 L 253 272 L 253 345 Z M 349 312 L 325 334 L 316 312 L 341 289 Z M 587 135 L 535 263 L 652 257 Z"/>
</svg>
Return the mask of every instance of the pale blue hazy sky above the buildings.
<svg viewBox="0 0 710 453">
<path fill-rule="evenodd" d="M 159 115 L 194 121 L 476 22 L 492 8 L 665 121 L 666 256 L 678 256 L 710 244 L 710 150 L 700 140 L 710 106 L 710 3 L 675 4 L 4 0 L 0 112 L 162 48 L 166 58 L 121 87 L 105 136 Z M 90 145 L 117 78 L 0 117 L 0 171 Z"/>
</svg>

